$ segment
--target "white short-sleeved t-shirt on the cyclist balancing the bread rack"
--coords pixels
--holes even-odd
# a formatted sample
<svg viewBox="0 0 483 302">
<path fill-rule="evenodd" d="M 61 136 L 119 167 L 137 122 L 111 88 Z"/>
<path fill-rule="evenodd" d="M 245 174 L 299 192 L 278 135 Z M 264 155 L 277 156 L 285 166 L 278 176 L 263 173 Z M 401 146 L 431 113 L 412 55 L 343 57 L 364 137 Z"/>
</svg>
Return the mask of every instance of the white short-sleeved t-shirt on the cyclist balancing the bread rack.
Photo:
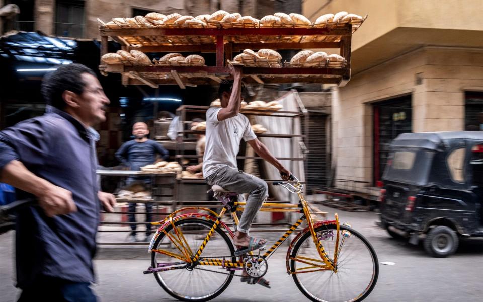
<svg viewBox="0 0 483 302">
<path fill-rule="evenodd" d="M 206 148 L 203 157 L 205 178 L 221 167 L 238 169 L 236 155 L 240 149 L 241 138 L 245 141 L 257 138 L 245 115 L 238 113 L 220 122 L 218 121 L 220 110 L 221 108 L 210 107 L 206 111 Z"/>
</svg>

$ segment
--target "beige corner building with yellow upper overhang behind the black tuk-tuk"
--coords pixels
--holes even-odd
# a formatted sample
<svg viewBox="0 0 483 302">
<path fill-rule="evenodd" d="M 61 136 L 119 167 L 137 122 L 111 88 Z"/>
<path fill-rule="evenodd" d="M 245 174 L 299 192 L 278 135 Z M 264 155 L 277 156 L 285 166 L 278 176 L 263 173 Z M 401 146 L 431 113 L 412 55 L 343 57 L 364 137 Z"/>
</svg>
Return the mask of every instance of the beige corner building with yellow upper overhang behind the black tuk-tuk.
<svg viewBox="0 0 483 302">
<path fill-rule="evenodd" d="M 353 36 L 352 78 L 333 90 L 336 178 L 371 191 L 398 134 L 483 130 L 483 1 L 303 2 L 311 20 L 339 11 L 368 18 Z"/>
</svg>

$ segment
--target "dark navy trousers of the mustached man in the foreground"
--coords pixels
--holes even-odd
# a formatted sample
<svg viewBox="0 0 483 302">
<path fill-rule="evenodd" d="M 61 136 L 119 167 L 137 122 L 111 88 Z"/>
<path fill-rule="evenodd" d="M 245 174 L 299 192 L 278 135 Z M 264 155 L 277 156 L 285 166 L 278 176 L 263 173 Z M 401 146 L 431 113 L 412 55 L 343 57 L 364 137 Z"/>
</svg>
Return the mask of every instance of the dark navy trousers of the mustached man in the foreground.
<svg viewBox="0 0 483 302">
<path fill-rule="evenodd" d="M 97 297 L 89 283 L 72 282 L 59 278 L 42 276 L 22 290 L 18 302 L 96 302 Z"/>
</svg>

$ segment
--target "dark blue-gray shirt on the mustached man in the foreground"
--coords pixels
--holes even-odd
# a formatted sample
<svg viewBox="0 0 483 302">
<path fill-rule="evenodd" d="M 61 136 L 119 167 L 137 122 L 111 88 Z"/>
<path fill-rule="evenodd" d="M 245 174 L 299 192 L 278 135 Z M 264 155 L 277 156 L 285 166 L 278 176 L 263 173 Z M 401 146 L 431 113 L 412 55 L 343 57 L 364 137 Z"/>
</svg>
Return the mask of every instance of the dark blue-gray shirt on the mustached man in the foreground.
<svg viewBox="0 0 483 302">
<path fill-rule="evenodd" d="M 69 114 L 52 109 L 0 131 L 0 171 L 12 160 L 72 192 L 77 211 L 47 217 L 40 207 L 18 212 L 17 286 L 25 288 L 41 275 L 93 282 L 92 258 L 100 203 L 97 157 L 91 131 Z M 18 192 L 18 198 L 28 197 Z"/>
</svg>

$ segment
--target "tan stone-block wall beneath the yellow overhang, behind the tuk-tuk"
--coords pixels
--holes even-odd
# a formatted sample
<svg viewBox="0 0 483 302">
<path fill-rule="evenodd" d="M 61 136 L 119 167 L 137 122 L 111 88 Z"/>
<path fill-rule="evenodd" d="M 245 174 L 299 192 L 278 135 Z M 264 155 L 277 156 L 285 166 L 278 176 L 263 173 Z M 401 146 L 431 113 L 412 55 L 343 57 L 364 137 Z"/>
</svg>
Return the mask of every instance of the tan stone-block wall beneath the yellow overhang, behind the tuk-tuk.
<svg viewBox="0 0 483 302">
<path fill-rule="evenodd" d="M 483 49 L 422 47 L 354 75 L 333 98 L 336 178 L 372 182 L 372 103 L 411 94 L 413 132 L 463 130 L 464 92 L 475 90 Z"/>
</svg>

